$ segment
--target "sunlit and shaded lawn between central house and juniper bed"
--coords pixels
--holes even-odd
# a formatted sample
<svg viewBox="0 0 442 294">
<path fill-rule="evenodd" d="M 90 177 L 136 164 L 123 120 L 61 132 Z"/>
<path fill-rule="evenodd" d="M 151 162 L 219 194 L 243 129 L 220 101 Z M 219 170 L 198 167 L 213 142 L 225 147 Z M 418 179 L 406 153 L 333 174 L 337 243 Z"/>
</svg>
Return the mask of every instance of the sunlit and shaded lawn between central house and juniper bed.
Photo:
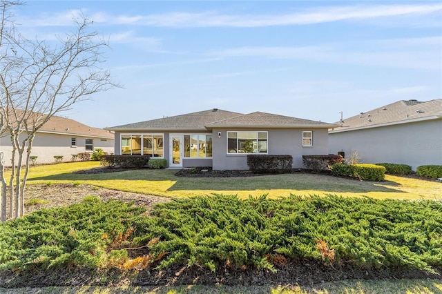
<svg viewBox="0 0 442 294">
<path fill-rule="evenodd" d="M 439 195 L 442 195 L 442 185 L 439 182 L 392 175 L 386 175 L 384 182 L 361 182 L 356 179 L 309 174 L 246 178 L 175 177 L 176 170 L 149 169 L 95 175 L 72 173 L 98 166 L 98 161 L 84 161 L 31 167 L 28 184 L 81 183 L 165 197 L 222 193 L 242 198 L 263 194 L 268 194 L 269 197 L 336 194 L 346 197 L 365 195 L 377 199 L 440 199 Z"/>
</svg>

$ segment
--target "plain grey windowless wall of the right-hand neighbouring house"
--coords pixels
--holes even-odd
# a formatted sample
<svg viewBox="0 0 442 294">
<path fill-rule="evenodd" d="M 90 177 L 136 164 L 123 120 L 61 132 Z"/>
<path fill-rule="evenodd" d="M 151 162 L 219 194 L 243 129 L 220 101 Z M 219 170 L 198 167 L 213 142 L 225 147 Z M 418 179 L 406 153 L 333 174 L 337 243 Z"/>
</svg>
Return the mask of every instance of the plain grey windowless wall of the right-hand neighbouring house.
<svg viewBox="0 0 442 294">
<path fill-rule="evenodd" d="M 442 165 L 442 119 L 329 134 L 329 150 L 352 151 L 363 163 Z"/>
</svg>

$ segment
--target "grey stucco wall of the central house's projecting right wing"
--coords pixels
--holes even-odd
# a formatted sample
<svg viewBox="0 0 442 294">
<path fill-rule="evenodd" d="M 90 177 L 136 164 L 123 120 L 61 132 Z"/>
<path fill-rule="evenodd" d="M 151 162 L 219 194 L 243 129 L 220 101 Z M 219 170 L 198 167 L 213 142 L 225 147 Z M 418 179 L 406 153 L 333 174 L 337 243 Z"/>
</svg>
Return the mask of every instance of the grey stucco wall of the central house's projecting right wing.
<svg viewBox="0 0 442 294">
<path fill-rule="evenodd" d="M 213 169 L 249 169 L 247 166 L 247 154 L 227 153 L 228 130 L 235 131 L 234 129 L 213 129 Z M 327 129 L 272 128 L 253 130 L 268 131 L 268 154 L 291 155 L 294 161 L 293 168 L 304 167 L 302 165 L 302 155 L 323 155 L 329 153 Z M 313 131 L 313 146 L 302 146 L 302 131 L 305 130 Z M 221 137 L 218 137 L 218 133 L 221 133 Z"/>
</svg>

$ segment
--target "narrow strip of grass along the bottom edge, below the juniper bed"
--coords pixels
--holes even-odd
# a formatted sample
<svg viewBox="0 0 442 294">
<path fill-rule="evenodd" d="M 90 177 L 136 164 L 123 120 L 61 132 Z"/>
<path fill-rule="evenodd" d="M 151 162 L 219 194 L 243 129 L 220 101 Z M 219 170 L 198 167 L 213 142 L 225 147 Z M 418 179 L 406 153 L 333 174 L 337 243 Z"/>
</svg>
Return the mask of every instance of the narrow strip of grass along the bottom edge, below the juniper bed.
<svg viewBox="0 0 442 294">
<path fill-rule="evenodd" d="M 206 293 L 244 293 L 244 294 L 330 294 L 330 293 L 441 293 L 441 280 L 349 280 L 345 282 L 327 283 L 322 286 L 70 286 L 46 288 L 0 288 L 4 294 L 17 293 L 134 293 L 134 294 L 206 294 Z"/>
</svg>

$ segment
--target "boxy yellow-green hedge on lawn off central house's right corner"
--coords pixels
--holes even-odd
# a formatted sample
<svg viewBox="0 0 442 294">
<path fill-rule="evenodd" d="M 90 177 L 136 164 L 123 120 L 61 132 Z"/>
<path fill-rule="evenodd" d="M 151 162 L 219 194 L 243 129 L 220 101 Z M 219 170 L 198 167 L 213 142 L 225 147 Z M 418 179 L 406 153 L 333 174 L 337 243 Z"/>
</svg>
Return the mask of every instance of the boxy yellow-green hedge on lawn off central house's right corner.
<svg viewBox="0 0 442 294">
<path fill-rule="evenodd" d="M 332 175 L 336 177 L 354 177 L 368 181 L 385 179 L 385 167 L 375 164 L 334 164 Z"/>
</svg>

